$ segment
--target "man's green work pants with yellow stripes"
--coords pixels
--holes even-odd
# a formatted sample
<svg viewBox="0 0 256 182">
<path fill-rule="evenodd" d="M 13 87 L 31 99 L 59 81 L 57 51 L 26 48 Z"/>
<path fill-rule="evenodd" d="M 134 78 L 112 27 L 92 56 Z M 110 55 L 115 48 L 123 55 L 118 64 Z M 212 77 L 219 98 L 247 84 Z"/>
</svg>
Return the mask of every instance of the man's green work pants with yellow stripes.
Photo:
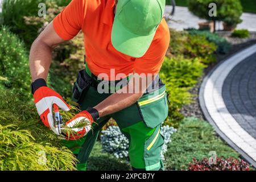
<svg viewBox="0 0 256 182">
<path fill-rule="evenodd" d="M 79 82 L 79 81 L 77 81 Z M 75 84 L 75 87 L 79 84 Z M 97 88 L 89 86 L 81 94 L 79 103 L 81 110 L 99 104 L 108 93 L 98 93 Z M 93 123 L 93 129 L 79 140 L 64 140 L 65 146 L 71 148 L 77 154 L 79 163 L 78 170 L 86 170 L 86 163 L 90 152 L 97 140 L 101 128 L 109 121 L 115 119 L 121 132 L 129 139 L 129 159 L 134 169 L 145 169 L 146 171 L 163 170 L 163 163 L 160 159 L 164 137 L 160 134 L 161 123 L 168 115 L 168 98 L 165 86 L 154 92 L 144 94 L 135 104 L 102 117 Z"/>
</svg>

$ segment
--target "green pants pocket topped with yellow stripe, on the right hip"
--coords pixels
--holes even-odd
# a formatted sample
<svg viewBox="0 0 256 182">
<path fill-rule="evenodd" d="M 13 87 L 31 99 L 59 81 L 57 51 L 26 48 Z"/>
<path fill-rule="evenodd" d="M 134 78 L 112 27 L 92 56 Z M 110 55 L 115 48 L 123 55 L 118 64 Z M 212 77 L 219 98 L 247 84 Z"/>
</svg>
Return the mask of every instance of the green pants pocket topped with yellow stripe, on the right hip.
<svg viewBox="0 0 256 182">
<path fill-rule="evenodd" d="M 166 86 L 145 94 L 137 101 L 137 105 L 147 127 L 153 129 L 160 125 L 168 116 Z"/>
</svg>

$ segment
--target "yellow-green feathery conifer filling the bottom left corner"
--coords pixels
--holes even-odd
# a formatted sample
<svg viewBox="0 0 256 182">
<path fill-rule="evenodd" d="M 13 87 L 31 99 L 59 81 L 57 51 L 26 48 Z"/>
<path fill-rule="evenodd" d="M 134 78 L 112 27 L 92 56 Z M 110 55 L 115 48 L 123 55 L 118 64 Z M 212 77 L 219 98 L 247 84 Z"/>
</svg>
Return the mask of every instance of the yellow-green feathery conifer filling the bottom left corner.
<svg viewBox="0 0 256 182">
<path fill-rule="evenodd" d="M 73 170 L 76 159 L 65 147 L 36 143 L 28 130 L 0 125 L 0 170 Z"/>
</svg>

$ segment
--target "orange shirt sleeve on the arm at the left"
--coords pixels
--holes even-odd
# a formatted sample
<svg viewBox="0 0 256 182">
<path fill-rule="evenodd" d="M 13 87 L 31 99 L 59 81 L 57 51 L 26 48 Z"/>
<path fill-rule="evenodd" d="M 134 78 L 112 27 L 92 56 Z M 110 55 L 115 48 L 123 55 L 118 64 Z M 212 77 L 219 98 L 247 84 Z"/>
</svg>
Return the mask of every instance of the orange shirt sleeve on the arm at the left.
<svg viewBox="0 0 256 182">
<path fill-rule="evenodd" d="M 53 19 L 53 27 L 64 40 L 74 38 L 82 28 L 85 18 L 86 0 L 72 0 L 59 15 Z"/>
</svg>

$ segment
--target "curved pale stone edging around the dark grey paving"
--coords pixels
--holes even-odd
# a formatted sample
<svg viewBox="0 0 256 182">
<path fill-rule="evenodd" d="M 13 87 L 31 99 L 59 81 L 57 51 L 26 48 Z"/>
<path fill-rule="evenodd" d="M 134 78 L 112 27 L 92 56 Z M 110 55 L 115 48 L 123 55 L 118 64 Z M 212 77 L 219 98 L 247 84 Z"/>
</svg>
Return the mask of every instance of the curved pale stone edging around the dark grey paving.
<svg viewBox="0 0 256 182">
<path fill-rule="evenodd" d="M 243 49 L 218 64 L 203 80 L 199 101 L 205 118 L 231 147 L 256 167 L 256 140 L 233 118 L 222 98 L 222 86 L 237 64 L 256 52 L 256 44 Z"/>
</svg>

